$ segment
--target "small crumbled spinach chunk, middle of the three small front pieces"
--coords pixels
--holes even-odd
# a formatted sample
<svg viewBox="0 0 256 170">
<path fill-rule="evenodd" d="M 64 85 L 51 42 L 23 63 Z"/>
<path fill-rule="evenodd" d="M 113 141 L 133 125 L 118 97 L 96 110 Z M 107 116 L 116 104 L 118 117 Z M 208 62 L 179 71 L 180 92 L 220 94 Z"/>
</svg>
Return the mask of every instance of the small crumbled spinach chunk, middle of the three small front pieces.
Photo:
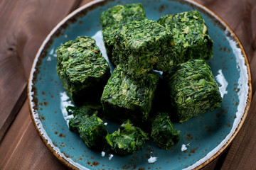
<svg viewBox="0 0 256 170">
<path fill-rule="evenodd" d="M 107 134 L 106 140 L 116 154 L 127 155 L 143 149 L 149 137 L 141 128 L 127 120 L 117 131 Z"/>
</svg>

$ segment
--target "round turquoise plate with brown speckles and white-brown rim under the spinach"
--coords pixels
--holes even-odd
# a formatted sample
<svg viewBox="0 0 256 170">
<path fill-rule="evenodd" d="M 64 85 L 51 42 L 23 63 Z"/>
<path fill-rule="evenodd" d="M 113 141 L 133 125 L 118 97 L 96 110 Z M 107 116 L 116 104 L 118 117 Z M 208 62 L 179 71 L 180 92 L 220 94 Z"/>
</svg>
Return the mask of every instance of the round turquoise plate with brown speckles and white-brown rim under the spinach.
<svg viewBox="0 0 256 170">
<path fill-rule="evenodd" d="M 147 142 L 142 151 L 126 157 L 94 152 L 68 129 L 65 106 L 73 105 L 58 78 L 56 47 L 79 35 L 102 43 L 100 12 L 116 4 L 138 1 L 92 1 L 67 16 L 48 35 L 38 50 L 28 82 L 31 118 L 46 147 L 70 169 L 200 169 L 225 150 L 244 123 L 252 86 L 250 67 L 238 38 L 228 25 L 208 8 L 194 1 L 141 0 L 147 18 L 157 20 L 168 13 L 198 10 L 214 41 L 213 58 L 208 61 L 223 96 L 221 108 L 175 123 L 181 140 L 166 151 Z M 106 55 L 105 55 L 106 57 Z M 112 123 L 107 124 L 113 128 Z"/>
</svg>

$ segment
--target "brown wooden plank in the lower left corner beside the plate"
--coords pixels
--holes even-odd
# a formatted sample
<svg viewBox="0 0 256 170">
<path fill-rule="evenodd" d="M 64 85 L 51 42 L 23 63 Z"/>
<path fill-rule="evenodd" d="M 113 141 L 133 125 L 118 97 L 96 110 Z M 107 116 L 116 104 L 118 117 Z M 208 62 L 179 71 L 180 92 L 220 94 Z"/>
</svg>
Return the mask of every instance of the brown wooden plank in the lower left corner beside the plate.
<svg viewBox="0 0 256 170">
<path fill-rule="evenodd" d="M 25 102 L 0 145 L 0 169 L 67 169 L 39 137 Z"/>
</svg>

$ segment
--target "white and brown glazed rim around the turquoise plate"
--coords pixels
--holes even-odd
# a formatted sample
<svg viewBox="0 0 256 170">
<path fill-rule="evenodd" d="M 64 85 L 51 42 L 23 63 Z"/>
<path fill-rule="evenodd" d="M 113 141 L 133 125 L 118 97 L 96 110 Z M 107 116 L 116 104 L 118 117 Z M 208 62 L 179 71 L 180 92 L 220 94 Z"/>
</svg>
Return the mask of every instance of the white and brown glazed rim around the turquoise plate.
<svg viewBox="0 0 256 170">
<path fill-rule="evenodd" d="M 50 33 L 47 35 L 47 37 L 45 38 L 45 40 L 41 44 L 41 47 L 38 49 L 38 52 L 36 53 L 36 57 L 33 60 L 33 64 L 32 64 L 32 67 L 31 67 L 31 72 L 30 72 L 29 78 L 28 78 L 28 86 L 27 86 L 28 108 L 29 108 L 29 111 L 30 111 L 30 115 L 31 115 L 31 119 L 32 119 L 33 125 L 35 126 L 36 131 L 38 132 L 38 135 L 41 137 L 41 140 L 46 145 L 46 147 L 50 150 L 50 152 L 53 153 L 53 155 L 58 159 L 58 161 L 62 162 L 69 169 L 79 169 L 79 165 L 80 164 L 78 164 L 78 163 L 77 164 L 73 164 L 73 163 L 69 162 L 68 161 L 68 157 L 63 157 L 63 155 L 60 155 L 60 153 L 58 153 L 54 149 L 55 146 L 49 142 L 50 137 L 48 137 L 47 133 L 45 132 L 46 133 L 45 135 L 47 135 L 47 137 L 49 139 L 46 139 L 44 134 L 42 134 L 42 130 L 43 131 L 45 131 L 45 130 L 43 129 L 43 125 L 41 123 L 41 120 L 39 120 L 36 117 L 36 114 L 38 116 L 38 113 L 37 112 L 33 113 L 33 112 L 36 111 L 36 110 L 33 109 L 33 107 L 34 107 L 33 106 L 34 105 L 33 104 L 33 91 L 32 91 L 33 90 L 33 76 L 37 72 L 36 65 L 38 64 L 39 57 L 41 57 L 44 48 L 46 47 L 47 43 L 50 42 L 50 39 L 53 37 L 53 35 L 56 33 L 56 31 L 59 28 L 61 28 L 62 26 L 64 26 L 65 23 L 67 23 L 67 21 L 69 21 L 71 18 L 73 18 L 74 16 L 76 16 L 80 12 L 84 11 L 86 8 L 92 7 L 95 4 L 100 4 L 101 2 L 106 2 L 107 3 L 107 1 L 111 1 L 111 0 L 92 0 L 92 1 L 88 2 L 87 4 L 85 4 L 83 6 L 80 6 L 79 8 L 75 9 L 75 11 L 73 11 L 70 14 L 68 14 L 68 16 L 65 16 L 65 18 L 63 18 L 50 31 Z M 173 0 L 173 1 L 181 2 L 181 0 Z M 235 128 L 235 131 L 230 136 L 230 138 L 227 140 L 227 142 L 225 142 L 225 144 L 222 147 L 220 147 L 220 149 L 218 149 L 218 151 L 215 152 L 215 154 L 213 154 L 213 156 L 211 156 L 209 159 L 207 159 L 203 163 L 201 163 L 198 166 L 193 168 L 193 169 L 201 169 L 201 168 L 205 167 L 206 165 L 210 164 L 210 162 L 213 162 L 213 160 L 217 159 L 220 156 L 220 154 L 223 153 L 225 151 L 225 149 L 227 149 L 230 146 L 231 142 L 233 142 L 235 137 L 238 135 L 238 132 L 240 132 L 240 130 L 242 128 L 242 125 L 245 123 L 245 119 L 246 119 L 247 114 L 249 112 L 250 103 L 251 103 L 251 100 L 252 100 L 252 77 L 251 77 L 251 72 L 250 72 L 250 64 L 248 62 L 247 55 L 245 53 L 244 47 L 242 46 L 242 43 L 240 42 L 238 36 L 235 35 L 235 32 L 230 28 L 230 26 L 228 26 L 228 24 L 225 23 L 225 21 L 223 21 L 223 19 L 220 18 L 220 16 L 218 16 L 215 12 L 211 11 L 206 6 L 203 6 L 203 4 L 199 4 L 197 1 L 194 1 L 194 0 L 185 0 L 185 2 L 187 2 L 188 4 L 192 4 L 193 6 L 197 6 L 198 8 L 201 8 L 208 16 L 209 15 L 212 16 L 218 22 L 220 22 L 223 26 L 225 26 L 226 29 L 228 29 L 228 31 L 231 33 L 231 35 L 233 35 L 233 39 L 235 40 L 235 42 L 238 43 L 237 46 L 241 49 L 242 57 L 245 60 L 245 65 L 246 65 L 246 68 L 247 68 L 247 76 L 248 76 L 248 81 L 247 81 L 247 86 L 248 86 L 247 101 L 246 101 L 246 106 L 244 108 L 244 111 L 242 113 L 242 117 L 240 118 L 240 121 L 238 123 L 238 126 Z M 55 147 L 55 148 L 58 148 L 58 147 Z M 196 162 L 194 164 L 196 164 Z M 87 169 L 85 166 L 82 166 L 82 168 Z M 90 170 L 90 169 L 87 169 L 87 170 Z"/>
</svg>

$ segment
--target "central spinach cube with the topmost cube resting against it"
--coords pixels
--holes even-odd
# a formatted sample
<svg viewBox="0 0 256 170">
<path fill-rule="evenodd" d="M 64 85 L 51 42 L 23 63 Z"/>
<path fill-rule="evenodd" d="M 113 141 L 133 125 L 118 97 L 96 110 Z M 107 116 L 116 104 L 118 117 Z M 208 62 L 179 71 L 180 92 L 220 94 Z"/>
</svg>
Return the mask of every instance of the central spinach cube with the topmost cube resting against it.
<svg viewBox="0 0 256 170">
<path fill-rule="evenodd" d="M 112 120 L 146 121 L 158 81 L 159 76 L 154 73 L 146 74 L 144 79 L 134 80 L 117 66 L 101 97 L 103 113 Z"/>
</svg>

